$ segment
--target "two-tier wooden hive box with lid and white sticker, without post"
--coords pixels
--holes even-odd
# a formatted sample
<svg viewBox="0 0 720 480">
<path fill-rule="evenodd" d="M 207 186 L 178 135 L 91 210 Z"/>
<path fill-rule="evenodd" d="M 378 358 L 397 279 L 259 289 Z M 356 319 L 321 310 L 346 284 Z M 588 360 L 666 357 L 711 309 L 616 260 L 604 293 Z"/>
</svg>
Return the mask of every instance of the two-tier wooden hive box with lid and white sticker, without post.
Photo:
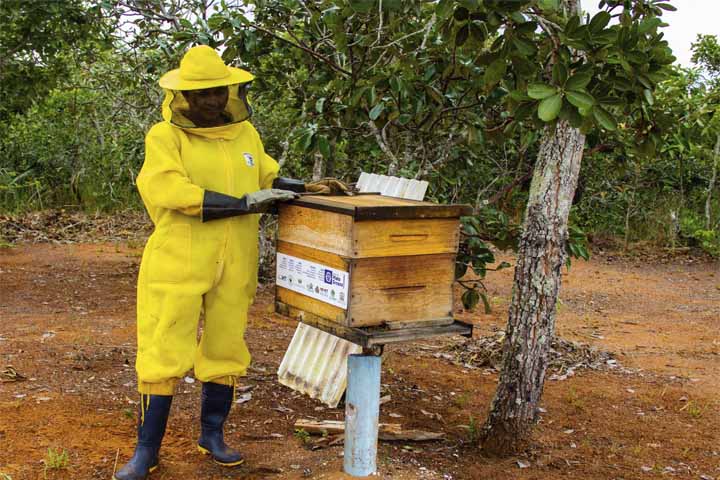
<svg viewBox="0 0 720 480">
<path fill-rule="evenodd" d="M 280 304 L 345 327 L 452 323 L 459 217 L 466 205 L 375 194 L 280 205 Z"/>
</svg>

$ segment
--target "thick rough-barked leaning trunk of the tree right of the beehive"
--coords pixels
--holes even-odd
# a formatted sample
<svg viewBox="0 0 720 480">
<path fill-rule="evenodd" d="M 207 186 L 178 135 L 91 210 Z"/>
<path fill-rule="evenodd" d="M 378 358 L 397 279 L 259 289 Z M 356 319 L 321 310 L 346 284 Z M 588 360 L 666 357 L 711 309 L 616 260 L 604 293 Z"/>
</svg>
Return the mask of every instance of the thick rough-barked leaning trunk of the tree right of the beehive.
<svg viewBox="0 0 720 480">
<path fill-rule="evenodd" d="M 516 452 L 536 420 L 584 145 L 585 136 L 567 122 L 545 129 L 515 267 L 502 371 L 482 432 L 489 453 Z"/>
</svg>

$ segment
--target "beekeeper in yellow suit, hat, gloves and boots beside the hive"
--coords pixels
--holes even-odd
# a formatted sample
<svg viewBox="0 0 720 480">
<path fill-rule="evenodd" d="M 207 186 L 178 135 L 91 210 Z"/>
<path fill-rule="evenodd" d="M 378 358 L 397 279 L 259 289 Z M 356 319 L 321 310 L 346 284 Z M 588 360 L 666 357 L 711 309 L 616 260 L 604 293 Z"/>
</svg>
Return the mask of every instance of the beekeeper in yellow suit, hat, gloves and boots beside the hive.
<svg viewBox="0 0 720 480">
<path fill-rule="evenodd" d="M 253 78 L 199 46 L 160 79 L 164 121 L 146 136 L 137 177 L 155 225 L 137 288 L 138 439 L 116 480 L 144 479 L 157 468 L 176 384 L 193 367 L 203 382 L 198 450 L 220 465 L 243 462 L 225 444 L 223 425 L 250 364 L 244 335 L 257 286 L 259 214 L 295 192 L 347 188 L 278 177 L 248 121 Z"/>
</svg>

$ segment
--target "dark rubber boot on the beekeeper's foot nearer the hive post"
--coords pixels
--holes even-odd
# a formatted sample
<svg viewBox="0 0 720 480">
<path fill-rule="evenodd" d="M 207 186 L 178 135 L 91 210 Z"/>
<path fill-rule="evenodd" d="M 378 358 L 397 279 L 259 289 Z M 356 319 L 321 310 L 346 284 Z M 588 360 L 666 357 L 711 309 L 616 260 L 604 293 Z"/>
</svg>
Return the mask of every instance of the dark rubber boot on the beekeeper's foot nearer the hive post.
<svg viewBox="0 0 720 480">
<path fill-rule="evenodd" d="M 223 440 L 223 425 L 232 406 L 233 388 L 219 383 L 203 383 L 200 410 L 202 434 L 198 440 L 198 450 L 205 455 L 212 455 L 215 463 L 224 467 L 235 467 L 245 461 L 239 452 L 225 445 Z"/>
</svg>

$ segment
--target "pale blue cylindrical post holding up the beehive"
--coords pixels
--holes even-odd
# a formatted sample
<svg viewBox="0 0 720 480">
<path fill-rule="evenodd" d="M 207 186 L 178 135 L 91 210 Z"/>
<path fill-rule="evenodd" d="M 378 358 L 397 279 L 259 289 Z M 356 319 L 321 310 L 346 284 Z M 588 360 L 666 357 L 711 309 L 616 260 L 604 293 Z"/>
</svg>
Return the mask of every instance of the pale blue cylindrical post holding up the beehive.
<svg viewBox="0 0 720 480">
<path fill-rule="evenodd" d="M 354 477 L 365 477 L 377 470 L 380 357 L 350 355 L 347 368 L 343 469 Z"/>
</svg>

